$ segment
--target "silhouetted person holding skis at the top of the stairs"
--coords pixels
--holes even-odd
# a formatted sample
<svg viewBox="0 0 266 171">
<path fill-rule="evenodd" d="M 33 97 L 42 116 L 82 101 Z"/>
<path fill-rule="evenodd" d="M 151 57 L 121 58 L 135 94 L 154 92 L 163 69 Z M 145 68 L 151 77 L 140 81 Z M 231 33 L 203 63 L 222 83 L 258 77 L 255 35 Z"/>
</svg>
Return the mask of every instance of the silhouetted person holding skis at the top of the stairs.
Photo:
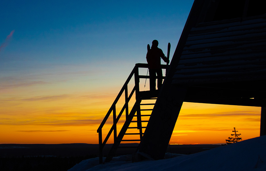
<svg viewBox="0 0 266 171">
<path fill-rule="evenodd" d="M 164 62 L 169 62 L 163 51 L 158 48 L 159 42 L 157 40 L 152 41 L 151 49 L 148 50 L 146 59 L 149 64 L 149 76 L 150 76 L 150 90 L 155 90 L 156 86 L 156 74 L 158 77 L 157 88 L 160 89 L 163 83 L 163 71 L 161 67 L 161 58 Z"/>
</svg>

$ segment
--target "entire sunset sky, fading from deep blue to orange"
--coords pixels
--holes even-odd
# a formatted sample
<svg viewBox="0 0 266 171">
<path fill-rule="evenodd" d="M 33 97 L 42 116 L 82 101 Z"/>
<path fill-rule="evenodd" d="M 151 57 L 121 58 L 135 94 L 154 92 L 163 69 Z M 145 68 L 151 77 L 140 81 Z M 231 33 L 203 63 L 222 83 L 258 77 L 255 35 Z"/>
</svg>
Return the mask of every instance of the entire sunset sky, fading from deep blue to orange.
<svg viewBox="0 0 266 171">
<path fill-rule="evenodd" d="M 98 143 L 147 44 L 157 39 L 166 54 L 170 42 L 172 59 L 192 3 L 1 0 L 0 143 Z M 184 103 L 170 143 L 225 143 L 233 127 L 257 137 L 260 110 Z"/>
</svg>

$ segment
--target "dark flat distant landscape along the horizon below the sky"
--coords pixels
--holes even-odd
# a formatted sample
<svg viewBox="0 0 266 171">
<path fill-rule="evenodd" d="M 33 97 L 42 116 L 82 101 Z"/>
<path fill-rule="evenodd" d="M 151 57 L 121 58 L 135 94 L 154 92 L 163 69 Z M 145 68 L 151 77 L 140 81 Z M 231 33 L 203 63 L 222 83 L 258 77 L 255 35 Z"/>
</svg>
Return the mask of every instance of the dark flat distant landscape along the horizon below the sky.
<svg viewBox="0 0 266 171">
<path fill-rule="evenodd" d="M 136 144 L 126 144 L 127 146 Z M 104 156 L 112 144 L 107 144 Z M 170 145 L 167 152 L 176 154 L 193 154 L 221 145 Z M 66 171 L 75 164 L 98 156 L 98 144 L 0 144 L 0 170 L 56 170 Z M 132 154 L 134 149 L 123 149 L 119 155 Z"/>
</svg>

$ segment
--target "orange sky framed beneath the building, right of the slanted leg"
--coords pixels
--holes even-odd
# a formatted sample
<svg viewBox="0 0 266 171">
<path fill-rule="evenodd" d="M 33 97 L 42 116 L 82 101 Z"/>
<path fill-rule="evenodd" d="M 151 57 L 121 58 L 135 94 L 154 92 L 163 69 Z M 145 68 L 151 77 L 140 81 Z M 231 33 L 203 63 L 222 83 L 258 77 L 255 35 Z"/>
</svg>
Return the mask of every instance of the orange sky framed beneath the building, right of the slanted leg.
<svg viewBox="0 0 266 171">
<path fill-rule="evenodd" d="M 233 127 L 242 140 L 258 137 L 260 111 L 260 107 L 184 103 L 170 143 L 225 143 Z"/>
</svg>

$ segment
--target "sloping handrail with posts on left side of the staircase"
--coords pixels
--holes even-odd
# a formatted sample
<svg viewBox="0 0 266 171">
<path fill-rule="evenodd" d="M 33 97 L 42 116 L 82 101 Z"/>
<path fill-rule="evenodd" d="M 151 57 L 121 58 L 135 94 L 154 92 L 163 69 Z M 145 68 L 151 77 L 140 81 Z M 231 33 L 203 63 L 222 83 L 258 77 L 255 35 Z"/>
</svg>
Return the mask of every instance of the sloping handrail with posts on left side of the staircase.
<svg viewBox="0 0 266 171">
<path fill-rule="evenodd" d="M 103 163 L 103 154 L 102 154 L 102 150 L 103 147 L 105 146 L 105 144 L 107 143 L 109 137 L 111 136 L 112 132 L 114 131 L 114 141 L 117 138 L 117 130 L 116 130 L 116 124 L 118 122 L 118 120 L 120 119 L 122 113 L 124 112 L 124 110 L 126 110 L 126 119 L 128 117 L 128 102 L 130 101 L 132 95 L 134 94 L 134 92 L 136 92 L 136 95 L 139 92 L 139 79 L 140 78 L 149 78 L 149 76 L 140 76 L 138 74 L 138 68 L 148 68 L 148 64 L 136 64 L 133 68 L 133 70 L 131 71 L 131 73 L 129 74 L 126 82 L 124 83 L 124 85 L 122 86 L 121 90 L 119 91 L 117 97 L 115 98 L 115 101 L 113 102 L 113 104 L 111 105 L 110 109 L 108 110 L 107 114 L 105 115 L 103 121 L 101 122 L 99 128 L 97 129 L 97 133 L 99 133 L 99 162 Z M 163 69 L 166 69 L 166 65 L 161 65 L 161 67 Z M 133 87 L 132 91 L 130 92 L 129 96 L 128 96 L 128 83 L 130 82 L 130 80 L 132 79 L 132 77 L 134 76 L 135 78 L 135 86 Z M 123 94 L 123 92 L 125 91 L 125 104 L 123 105 L 121 111 L 119 112 L 119 115 L 116 117 L 116 104 L 118 102 L 118 100 L 120 99 L 121 95 Z M 107 119 L 109 118 L 110 114 L 113 111 L 113 125 L 110 129 L 110 131 L 107 133 L 104 141 L 102 141 L 102 128 L 104 126 L 104 124 L 106 123 Z"/>
</svg>

